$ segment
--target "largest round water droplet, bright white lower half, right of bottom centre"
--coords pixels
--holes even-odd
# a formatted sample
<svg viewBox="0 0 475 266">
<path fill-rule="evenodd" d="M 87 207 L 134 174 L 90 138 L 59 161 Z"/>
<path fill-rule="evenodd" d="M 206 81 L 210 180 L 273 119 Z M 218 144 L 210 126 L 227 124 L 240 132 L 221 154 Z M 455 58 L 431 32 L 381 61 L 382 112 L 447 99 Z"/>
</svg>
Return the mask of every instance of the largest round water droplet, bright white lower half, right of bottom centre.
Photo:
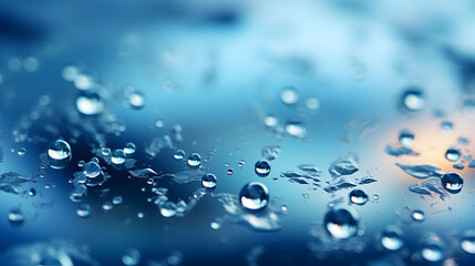
<svg viewBox="0 0 475 266">
<path fill-rule="evenodd" d="M 334 206 L 324 215 L 324 228 L 335 238 L 344 239 L 357 234 L 358 213 L 347 206 Z"/>
</svg>

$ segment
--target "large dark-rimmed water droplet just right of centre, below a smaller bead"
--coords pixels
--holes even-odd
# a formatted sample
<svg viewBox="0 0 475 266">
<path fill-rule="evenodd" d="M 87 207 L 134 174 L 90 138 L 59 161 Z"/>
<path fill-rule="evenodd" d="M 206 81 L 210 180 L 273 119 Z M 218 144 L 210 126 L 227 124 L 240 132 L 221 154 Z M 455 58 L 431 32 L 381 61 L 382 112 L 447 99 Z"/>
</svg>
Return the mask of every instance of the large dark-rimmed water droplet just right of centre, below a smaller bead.
<svg viewBox="0 0 475 266">
<path fill-rule="evenodd" d="M 258 182 L 247 183 L 239 193 L 239 202 L 246 209 L 262 209 L 269 202 L 269 190 Z"/>
</svg>

